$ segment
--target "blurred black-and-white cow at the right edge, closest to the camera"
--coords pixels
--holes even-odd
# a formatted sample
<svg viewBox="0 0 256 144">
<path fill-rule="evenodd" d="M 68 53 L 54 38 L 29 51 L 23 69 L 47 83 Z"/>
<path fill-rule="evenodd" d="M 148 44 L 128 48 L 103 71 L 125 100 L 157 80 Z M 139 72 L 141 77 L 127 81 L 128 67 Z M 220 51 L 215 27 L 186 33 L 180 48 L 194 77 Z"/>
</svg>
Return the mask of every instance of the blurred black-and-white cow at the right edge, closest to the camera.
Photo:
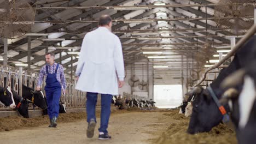
<svg viewBox="0 0 256 144">
<path fill-rule="evenodd" d="M 230 117 L 236 127 L 238 143 L 248 144 L 256 140 L 256 59 L 245 68 L 226 77 L 222 88 L 229 88 L 222 99 L 230 107 Z M 240 87 L 241 91 L 240 91 Z"/>
</svg>

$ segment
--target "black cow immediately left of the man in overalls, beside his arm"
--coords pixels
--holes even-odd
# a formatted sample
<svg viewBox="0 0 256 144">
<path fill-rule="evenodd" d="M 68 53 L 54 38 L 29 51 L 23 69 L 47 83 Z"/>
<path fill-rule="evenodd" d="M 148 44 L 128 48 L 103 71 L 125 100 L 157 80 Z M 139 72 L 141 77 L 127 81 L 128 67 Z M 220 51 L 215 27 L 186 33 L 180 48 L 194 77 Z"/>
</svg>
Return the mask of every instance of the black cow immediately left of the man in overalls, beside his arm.
<svg viewBox="0 0 256 144">
<path fill-rule="evenodd" d="M 46 100 L 42 91 L 34 91 L 33 88 L 22 85 L 22 97 L 30 100 L 32 104 L 43 110 L 47 109 Z"/>
</svg>

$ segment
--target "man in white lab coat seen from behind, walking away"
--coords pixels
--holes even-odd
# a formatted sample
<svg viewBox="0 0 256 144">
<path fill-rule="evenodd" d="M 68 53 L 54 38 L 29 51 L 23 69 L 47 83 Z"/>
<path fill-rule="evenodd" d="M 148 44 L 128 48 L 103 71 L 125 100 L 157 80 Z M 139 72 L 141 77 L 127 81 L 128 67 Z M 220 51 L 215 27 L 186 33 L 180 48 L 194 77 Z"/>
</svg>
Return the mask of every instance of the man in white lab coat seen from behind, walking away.
<svg viewBox="0 0 256 144">
<path fill-rule="evenodd" d="M 88 138 L 94 136 L 97 94 L 101 94 L 101 126 L 98 129 L 98 139 L 108 140 L 111 138 L 107 128 L 112 95 L 118 95 L 118 87 L 124 85 L 124 59 L 120 39 L 111 32 L 111 17 L 102 15 L 98 26 L 83 39 L 75 72 L 78 76 L 75 89 L 87 92 Z"/>
</svg>

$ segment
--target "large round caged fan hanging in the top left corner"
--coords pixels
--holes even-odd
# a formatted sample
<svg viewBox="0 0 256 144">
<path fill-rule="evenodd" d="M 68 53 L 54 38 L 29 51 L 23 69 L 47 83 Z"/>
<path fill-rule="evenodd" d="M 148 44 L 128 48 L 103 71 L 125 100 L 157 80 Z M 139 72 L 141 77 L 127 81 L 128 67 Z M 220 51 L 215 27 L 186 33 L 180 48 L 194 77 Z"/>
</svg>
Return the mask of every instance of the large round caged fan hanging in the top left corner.
<svg viewBox="0 0 256 144">
<path fill-rule="evenodd" d="M 4 0 L 0 4 L 0 37 L 18 38 L 30 32 L 35 11 L 24 0 Z"/>
</svg>

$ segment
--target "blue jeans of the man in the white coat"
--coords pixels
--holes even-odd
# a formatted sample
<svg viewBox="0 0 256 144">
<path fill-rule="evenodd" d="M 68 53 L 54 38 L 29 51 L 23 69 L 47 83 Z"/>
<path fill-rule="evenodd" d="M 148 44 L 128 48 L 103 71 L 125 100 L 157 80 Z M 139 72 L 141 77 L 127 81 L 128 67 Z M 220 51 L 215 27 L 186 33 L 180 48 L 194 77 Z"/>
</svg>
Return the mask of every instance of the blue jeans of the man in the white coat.
<svg viewBox="0 0 256 144">
<path fill-rule="evenodd" d="M 86 113 L 87 113 L 87 122 L 89 123 L 91 119 L 94 119 L 96 122 L 96 103 L 97 103 L 97 94 L 87 92 L 86 94 Z M 103 133 L 108 133 L 108 121 L 110 117 L 110 106 L 111 106 L 112 95 L 111 94 L 101 94 L 101 127 L 98 131 Z"/>
</svg>

